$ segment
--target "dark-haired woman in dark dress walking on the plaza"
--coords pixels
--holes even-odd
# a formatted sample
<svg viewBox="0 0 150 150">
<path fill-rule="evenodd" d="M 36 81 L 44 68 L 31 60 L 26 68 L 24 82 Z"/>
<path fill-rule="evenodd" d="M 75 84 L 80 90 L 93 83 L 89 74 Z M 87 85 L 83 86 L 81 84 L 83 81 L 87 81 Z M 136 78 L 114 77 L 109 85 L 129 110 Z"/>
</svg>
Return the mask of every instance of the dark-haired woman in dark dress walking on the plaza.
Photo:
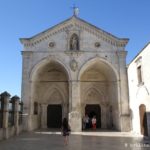
<svg viewBox="0 0 150 150">
<path fill-rule="evenodd" d="M 64 137 L 64 144 L 68 145 L 68 136 L 70 133 L 71 129 L 70 129 L 70 125 L 68 123 L 68 119 L 64 118 L 63 122 L 62 122 L 62 135 Z"/>
</svg>

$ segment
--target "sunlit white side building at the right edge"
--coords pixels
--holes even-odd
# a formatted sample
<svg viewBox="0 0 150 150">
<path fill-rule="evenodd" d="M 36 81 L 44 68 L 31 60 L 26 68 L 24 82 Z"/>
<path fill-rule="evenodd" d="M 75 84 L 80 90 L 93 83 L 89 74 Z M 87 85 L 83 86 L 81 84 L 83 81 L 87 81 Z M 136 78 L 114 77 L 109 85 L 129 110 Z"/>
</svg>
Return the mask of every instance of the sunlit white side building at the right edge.
<svg viewBox="0 0 150 150">
<path fill-rule="evenodd" d="M 128 67 L 132 130 L 150 136 L 150 43 Z"/>
</svg>

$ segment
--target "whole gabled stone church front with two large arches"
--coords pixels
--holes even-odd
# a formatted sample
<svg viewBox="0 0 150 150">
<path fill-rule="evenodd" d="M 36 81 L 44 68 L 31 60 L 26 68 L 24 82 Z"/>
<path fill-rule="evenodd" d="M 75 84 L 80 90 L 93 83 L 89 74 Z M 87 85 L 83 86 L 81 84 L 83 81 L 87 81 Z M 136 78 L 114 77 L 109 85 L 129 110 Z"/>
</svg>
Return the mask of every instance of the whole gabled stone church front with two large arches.
<svg viewBox="0 0 150 150">
<path fill-rule="evenodd" d="M 72 16 L 31 38 L 20 39 L 24 129 L 72 131 L 96 116 L 97 128 L 130 131 L 126 38 Z"/>
</svg>

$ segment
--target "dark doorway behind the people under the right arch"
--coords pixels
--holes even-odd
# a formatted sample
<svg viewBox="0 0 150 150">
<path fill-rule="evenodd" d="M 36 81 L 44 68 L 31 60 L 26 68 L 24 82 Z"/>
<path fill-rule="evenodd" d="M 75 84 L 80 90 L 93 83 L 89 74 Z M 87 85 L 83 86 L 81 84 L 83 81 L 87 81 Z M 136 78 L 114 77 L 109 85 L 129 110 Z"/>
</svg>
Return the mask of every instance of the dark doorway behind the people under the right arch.
<svg viewBox="0 0 150 150">
<path fill-rule="evenodd" d="M 101 108 L 96 104 L 88 104 L 85 107 L 85 114 L 92 119 L 93 116 L 96 116 L 97 128 L 101 128 Z"/>
</svg>

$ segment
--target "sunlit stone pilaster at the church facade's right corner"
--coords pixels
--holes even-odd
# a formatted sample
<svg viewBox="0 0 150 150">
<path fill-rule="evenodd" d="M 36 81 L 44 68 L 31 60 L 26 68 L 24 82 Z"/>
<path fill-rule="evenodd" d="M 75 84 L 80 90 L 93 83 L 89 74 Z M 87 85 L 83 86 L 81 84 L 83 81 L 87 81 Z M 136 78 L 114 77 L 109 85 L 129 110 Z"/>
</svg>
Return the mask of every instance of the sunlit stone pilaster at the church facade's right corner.
<svg viewBox="0 0 150 150">
<path fill-rule="evenodd" d="M 130 131 L 129 92 L 126 66 L 126 51 L 118 51 L 120 73 L 121 131 Z"/>
</svg>

